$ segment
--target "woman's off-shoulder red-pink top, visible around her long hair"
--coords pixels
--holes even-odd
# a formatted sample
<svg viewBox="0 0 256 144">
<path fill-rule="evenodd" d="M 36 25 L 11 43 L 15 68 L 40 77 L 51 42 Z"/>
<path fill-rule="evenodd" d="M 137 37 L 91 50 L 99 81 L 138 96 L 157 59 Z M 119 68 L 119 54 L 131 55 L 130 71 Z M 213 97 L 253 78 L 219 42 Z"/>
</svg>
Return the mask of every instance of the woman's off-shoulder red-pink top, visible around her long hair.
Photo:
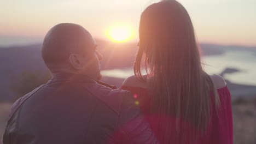
<svg viewBox="0 0 256 144">
<path fill-rule="evenodd" d="M 141 107 L 142 112 L 146 117 L 150 110 L 150 98 L 148 97 L 148 90 L 146 88 L 122 86 L 121 89 L 128 90 L 134 94 L 137 99 L 137 104 Z M 233 127 L 232 127 L 232 109 L 231 109 L 231 95 L 228 87 L 219 88 L 218 90 L 220 108 L 218 115 L 216 114 L 216 108 L 213 105 L 211 120 L 208 125 L 206 135 L 200 137 L 195 143 L 197 144 L 232 144 L 233 143 Z M 174 118 L 173 118 L 174 119 Z M 169 123 L 173 119 L 168 119 Z M 170 122 L 171 121 L 171 122 Z M 154 122 L 149 122 L 154 131 Z M 190 128 L 186 128 L 190 129 Z M 158 134 L 155 134 L 158 137 Z M 161 143 L 161 142 L 160 142 Z"/>
</svg>

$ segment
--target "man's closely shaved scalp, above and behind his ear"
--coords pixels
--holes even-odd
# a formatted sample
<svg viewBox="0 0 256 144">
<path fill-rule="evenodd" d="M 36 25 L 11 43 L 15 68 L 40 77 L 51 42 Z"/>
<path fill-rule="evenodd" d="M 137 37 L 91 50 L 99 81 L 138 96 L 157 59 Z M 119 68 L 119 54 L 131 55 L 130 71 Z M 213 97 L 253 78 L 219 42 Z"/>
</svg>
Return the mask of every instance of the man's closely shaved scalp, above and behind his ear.
<svg viewBox="0 0 256 144">
<path fill-rule="evenodd" d="M 74 23 L 60 23 L 46 34 L 42 57 L 51 72 L 67 67 L 73 54 L 93 57 L 96 42 L 91 34 L 80 25 Z"/>
</svg>

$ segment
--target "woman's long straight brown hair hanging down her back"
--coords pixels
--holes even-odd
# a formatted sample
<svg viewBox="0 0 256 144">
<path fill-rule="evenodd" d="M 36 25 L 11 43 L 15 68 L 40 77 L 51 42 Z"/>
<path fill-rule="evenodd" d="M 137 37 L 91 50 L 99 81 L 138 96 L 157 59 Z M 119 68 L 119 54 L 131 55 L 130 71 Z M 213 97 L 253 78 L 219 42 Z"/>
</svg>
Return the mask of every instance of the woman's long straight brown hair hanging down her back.
<svg viewBox="0 0 256 144">
<path fill-rule="evenodd" d="M 142 75 L 144 68 L 147 78 Z M 159 121 L 161 142 L 173 140 L 168 129 L 177 132 L 177 143 L 188 142 L 186 139 L 191 141 L 206 133 L 212 104 L 218 107 L 219 98 L 210 76 L 203 71 L 190 16 L 177 1 L 154 3 L 143 11 L 134 72 L 138 79 L 148 83 L 150 113 L 159 119 L 174 116 L 197 131 L 191 134 L 183 131 L 181 121 L 176 121 L 175 128 L 171 127 L 173 124 Z M 214 94 L 213 98 L 210 92 Z"/>
</svg>

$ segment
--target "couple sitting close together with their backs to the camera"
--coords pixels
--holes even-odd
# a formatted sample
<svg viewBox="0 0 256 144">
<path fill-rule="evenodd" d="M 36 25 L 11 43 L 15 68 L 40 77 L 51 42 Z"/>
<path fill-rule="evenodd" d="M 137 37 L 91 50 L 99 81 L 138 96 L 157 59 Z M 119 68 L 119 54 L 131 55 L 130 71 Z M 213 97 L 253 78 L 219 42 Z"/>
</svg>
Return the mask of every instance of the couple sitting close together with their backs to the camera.
<svg viewBox="0 0 256 144">
<path fill-rule="evenodd" d="M 99 81 L 102 56 L 88 31 L 51 28 L 42 57 L 53 79 L 15 102 L 3 143 L 232 143 L 229 90 L 203 71 L 185 8 L 146 8 L 138 46 L 135 75 L 115 89 Z"/>
</svg>

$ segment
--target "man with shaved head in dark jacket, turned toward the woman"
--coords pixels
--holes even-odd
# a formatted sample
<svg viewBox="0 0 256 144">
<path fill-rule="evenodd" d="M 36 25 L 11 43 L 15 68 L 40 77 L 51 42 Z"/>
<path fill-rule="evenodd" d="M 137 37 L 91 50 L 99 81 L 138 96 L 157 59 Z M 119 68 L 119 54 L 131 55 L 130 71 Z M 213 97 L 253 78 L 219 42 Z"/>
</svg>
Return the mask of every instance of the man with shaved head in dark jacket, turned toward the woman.
<svg viewBox="0 0 256 144">
<path fill-rule="evenodd" d="M 15 102 L 4 144 L 156 142 L 131 94 L 97 81 L 102 56 L 82 26 L 51 28 L 42 57 L 53 79 Z"/>
</svg>

